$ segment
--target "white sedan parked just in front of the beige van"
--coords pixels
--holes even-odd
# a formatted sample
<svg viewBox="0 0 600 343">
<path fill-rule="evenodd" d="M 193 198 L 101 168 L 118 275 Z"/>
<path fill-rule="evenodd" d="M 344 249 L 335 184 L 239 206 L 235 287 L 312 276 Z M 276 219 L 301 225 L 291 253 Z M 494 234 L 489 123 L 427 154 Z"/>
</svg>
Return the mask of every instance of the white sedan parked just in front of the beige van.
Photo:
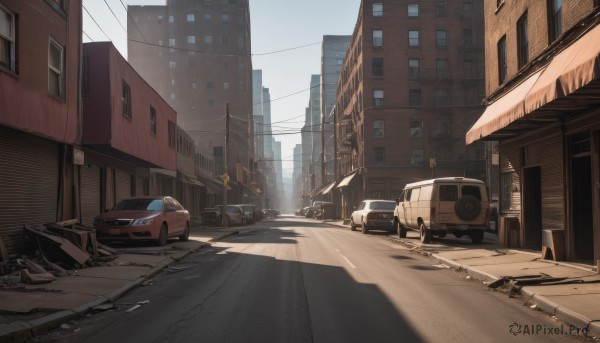
<svg viewBox="0 0 600 343">
<path fill-rule="evenodd" d="M 363 200 L 350 215 L 350 230 L 358 225 L 362 233 L 372 229 L 394 231 L 394 209 L 396 202 L 392 200 Z"/>
</svg>

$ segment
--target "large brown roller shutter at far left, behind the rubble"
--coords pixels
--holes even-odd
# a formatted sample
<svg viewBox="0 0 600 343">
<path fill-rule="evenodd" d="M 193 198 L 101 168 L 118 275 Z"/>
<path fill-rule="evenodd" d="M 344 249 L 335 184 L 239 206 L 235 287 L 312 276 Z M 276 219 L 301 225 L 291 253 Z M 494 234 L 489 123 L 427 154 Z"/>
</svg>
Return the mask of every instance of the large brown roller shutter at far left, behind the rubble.
<svg viewBox="0 0 600 343">
<path fill-rule="evenodd" d="M 23 245 L 23 224 L 56 222 L 59 146 L 0 127 L 0 235 L 10 254 Z"/>
</svg>

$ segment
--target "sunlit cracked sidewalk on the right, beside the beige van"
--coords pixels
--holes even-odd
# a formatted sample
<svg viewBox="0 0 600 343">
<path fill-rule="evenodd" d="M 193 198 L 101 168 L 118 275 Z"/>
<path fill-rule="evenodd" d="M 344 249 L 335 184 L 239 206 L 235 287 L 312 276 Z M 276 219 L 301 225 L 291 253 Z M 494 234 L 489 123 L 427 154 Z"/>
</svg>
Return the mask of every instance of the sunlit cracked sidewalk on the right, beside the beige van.
<svg viewBox="0 0 600 343">
<path fill-rule="evenodd" d="M 350 228 L 341 220 L 325 223 Z M 396 237 L 394 241 L 424 251 L 455 270 L 466 271 L 490 287 L 512 286 L 532 308 L 566 322 L 569 328 L 565 330 L 579 329 L 580 334 L 600 337 L 600 275 L 595 267 L 543 260 L 541 252 L 503 249 L 489 233 L 484 247 L 473 246 L 468 239 L 451 248 L 436 245 L 436 240 L 422 244 L 416 232 L 413 237 Z"/>
</svg>

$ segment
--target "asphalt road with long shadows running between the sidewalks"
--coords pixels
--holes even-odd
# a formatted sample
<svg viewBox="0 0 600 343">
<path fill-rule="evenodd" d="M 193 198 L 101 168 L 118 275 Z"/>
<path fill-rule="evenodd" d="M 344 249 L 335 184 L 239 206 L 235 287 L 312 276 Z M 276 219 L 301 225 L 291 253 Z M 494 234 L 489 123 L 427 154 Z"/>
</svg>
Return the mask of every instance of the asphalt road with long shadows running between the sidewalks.
<svg viewBox="0 0 600 343">
<path fill-rule="evenodd" d="M 561 323 L 383 233 L 363 235 L 303 218 L 254 224 L 171 266 L 116 305 L 116 311 L 71 323 L 75 332 L 56 330 L 34 341 L 581 340 L 549 334 Z M 514 336 L 513 323 L 540 331 Z"/>
</svg>

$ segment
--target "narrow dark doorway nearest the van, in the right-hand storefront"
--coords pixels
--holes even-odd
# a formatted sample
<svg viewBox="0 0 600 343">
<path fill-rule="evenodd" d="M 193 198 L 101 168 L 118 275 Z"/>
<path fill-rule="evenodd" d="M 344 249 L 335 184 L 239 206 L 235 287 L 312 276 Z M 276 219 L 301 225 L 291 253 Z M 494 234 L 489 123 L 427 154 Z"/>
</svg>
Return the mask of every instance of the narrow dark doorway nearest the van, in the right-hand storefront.
<svg viewBox="0 0 600 343">
<path fill-rule="evenodd" d="M 523 180 L 525 248 L 542 250 L 542 168 L 525 168 Z"/>
</svg>

